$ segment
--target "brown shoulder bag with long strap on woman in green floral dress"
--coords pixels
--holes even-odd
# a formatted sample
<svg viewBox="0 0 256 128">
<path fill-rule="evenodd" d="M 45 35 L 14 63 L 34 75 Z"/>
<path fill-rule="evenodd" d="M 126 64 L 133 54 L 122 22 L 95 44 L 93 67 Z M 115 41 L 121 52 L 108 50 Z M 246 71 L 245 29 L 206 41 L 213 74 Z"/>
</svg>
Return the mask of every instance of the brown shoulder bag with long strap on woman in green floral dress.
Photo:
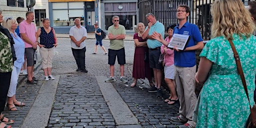
<svg viewBox="0 0 256 128">
<path fill-rule="evenodd" d="M 245 93 L 246 93 L 246 96 L 248 98 L 248 101 L 249 101 L 249 105 L 250 105 L 250 100 L 249 100 L 249 96 L 248 96 L 248 90 L 247 90 L 247 86 L 246 86 L 246 82 L 245 82 L 245 78 L 244 78 L 244 75 L 243 75 L 243 71 L 242 71 L 242 66 L 241 66 L 241 62 L 240 62 L 240 58 L 239 58 L 239 55 L 234 47 L 234 44 L 232 42 L 231 39 L 228 39 L 231 47 L 232 47 L 232 50 L 233 50 L 233 53 L 234 53 L 234 59 L 235 59 L 235 62 L 236 62 L 236 65 L 237 65 L 237 70 L 238 70 L 238 73 L 240 74 L 240 77 L 241 77 L 241 80 L 242 80 L 242 85 L 244 87 L 244 90 L 245 90 Z M 246 122 L 246 127 L 249 127 L 249 128 L 252 128 L 252 127 L 256 127 L 256 106 L 255 104 L 253 105 L 253 107 L 250 106 L 250 115 L 247 119 L 247 122 Z"/>
</svg>

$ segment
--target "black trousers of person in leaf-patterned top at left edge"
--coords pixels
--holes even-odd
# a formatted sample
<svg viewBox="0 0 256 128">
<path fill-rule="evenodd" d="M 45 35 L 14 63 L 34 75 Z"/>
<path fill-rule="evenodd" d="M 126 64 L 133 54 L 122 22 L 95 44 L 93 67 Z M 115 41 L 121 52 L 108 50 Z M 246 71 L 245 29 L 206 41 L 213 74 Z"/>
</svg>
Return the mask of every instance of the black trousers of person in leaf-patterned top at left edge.
<svg viewBox="0 0 256 128">
<path fill-rule="evenodd" d="M 4 110 L 7 93 L 10 86 L 10 72 L 0 72 L 0 113 Z"/>
</svg>

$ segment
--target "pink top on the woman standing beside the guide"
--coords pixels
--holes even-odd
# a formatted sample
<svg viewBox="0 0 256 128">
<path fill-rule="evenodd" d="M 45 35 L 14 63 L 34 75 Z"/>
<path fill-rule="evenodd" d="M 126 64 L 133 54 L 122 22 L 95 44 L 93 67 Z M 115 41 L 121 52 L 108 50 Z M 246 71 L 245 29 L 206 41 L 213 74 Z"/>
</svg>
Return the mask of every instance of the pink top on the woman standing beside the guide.
<svg viewBox="0 0 256 128">
<path fill-rule="evenodd" d="M 170 41 L 169 36 L 167 36 L 164 40 L 169 42 Z M 166 53 L 163 50 L 164 47 L 167 48 Z M 172 49 L 170 49 L 167 46 L 162 44 L 161 45 L 161 53 L 164 54 L 163 61 L 164 61 L 166 66 L 174 64 L 174 50 L 172 50 Z"/>
</svg>

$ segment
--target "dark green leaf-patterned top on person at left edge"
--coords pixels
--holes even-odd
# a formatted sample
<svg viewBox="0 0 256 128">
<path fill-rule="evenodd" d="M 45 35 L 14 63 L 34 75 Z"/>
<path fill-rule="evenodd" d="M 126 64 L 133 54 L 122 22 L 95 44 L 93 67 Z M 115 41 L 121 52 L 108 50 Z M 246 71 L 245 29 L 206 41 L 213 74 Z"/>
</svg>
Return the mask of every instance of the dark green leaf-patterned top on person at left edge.
<svg viewBox="0 0 256 128">
<path fill-rule="evenodd" d="M 12 71 L 12 53 L 8 37 L 0 32 L 0 72 Z"/>
</svg>

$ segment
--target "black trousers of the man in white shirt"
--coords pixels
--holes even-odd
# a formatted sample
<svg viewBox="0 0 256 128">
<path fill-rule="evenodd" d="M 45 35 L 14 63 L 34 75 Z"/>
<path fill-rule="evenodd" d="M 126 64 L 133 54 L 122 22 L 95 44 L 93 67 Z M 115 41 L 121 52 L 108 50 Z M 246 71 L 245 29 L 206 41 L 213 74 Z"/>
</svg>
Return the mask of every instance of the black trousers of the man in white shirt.
<svg viewBox="0 0 256 128">
<path fill-rule="evenodd" d="M 85 69 L 85 46 L 81 49 L 72 48 L 72 53 L 79 69 Z"/>
</svg>

